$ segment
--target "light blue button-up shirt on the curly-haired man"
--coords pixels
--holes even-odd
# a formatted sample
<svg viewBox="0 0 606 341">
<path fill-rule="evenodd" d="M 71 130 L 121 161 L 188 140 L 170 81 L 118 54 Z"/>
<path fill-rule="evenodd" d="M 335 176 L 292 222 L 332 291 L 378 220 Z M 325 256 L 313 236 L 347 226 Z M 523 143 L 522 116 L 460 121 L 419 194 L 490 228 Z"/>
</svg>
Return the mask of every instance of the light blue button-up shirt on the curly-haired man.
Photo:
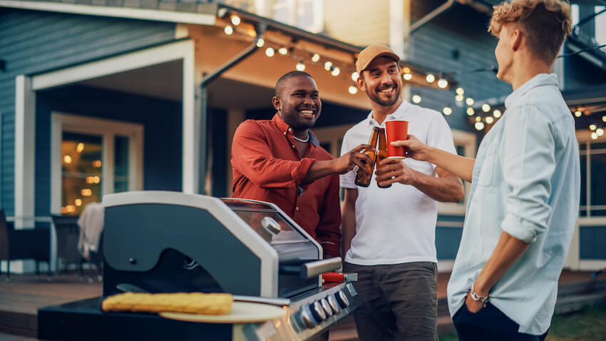
<svg viewBox="0 0 606 341">
<path fill-rule="evenodd" d="M 541 335 L 550 325 L 578 215 L 575 122 L 554 74 L 524 83 L 505 108 L 478 149 L 448 307 L 451 316 L 461 308 L 505 231 L 531 245 L 493 287 L 491 302 L 519 332 Z"/>
</svg>

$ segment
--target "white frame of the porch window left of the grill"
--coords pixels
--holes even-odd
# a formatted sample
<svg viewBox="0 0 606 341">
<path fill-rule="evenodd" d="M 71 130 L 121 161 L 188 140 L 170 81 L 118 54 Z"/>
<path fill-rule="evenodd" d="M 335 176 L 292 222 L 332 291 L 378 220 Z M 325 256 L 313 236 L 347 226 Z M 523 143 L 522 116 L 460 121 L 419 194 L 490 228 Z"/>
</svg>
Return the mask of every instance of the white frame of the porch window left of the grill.
<svg viewBox="0 0 606 341">
<path fill-rule="evenodd" d="M 115 136 L 128 138 L 128 190 L 143 190 L 143 125 L 53 112 L 51 114 L 51 213 L 61 214 L 63 132 L 102 137 L 102 195 L 114 193 Z"/>
</svg>

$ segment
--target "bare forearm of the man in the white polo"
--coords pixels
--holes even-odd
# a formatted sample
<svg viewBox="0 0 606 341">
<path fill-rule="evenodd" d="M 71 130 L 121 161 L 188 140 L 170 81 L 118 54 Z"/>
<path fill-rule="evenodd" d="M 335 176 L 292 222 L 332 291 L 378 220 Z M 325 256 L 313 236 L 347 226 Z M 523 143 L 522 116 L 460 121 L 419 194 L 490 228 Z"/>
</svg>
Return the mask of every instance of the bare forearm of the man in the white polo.
<svg viewBox="0 0 606 341">
<path fill-rule="evenodd" d="M 416 170 L 414 187 L 436 201 L 444 203 L 459 203 L 463 200 L 463 183 L 455 175 L 435 177 Z"/>
</svg>

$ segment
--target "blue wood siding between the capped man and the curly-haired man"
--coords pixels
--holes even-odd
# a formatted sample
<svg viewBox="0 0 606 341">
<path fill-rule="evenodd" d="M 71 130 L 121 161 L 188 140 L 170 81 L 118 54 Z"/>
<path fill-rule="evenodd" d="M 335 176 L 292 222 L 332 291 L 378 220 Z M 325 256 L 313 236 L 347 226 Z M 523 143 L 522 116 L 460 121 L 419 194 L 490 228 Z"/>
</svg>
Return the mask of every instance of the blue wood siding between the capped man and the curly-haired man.
<svg viewBox="0 0 606 341">
<path fill-rule="evenodd" d="M 443 0 L 412 1 L 411 23 L 443 2 Z M 497 41 L 486 31 L 489 20 L 486 14 L 456 4 L 411 35 L 409 58 L 414 63 L 446 73 L 496 66 L 494 48 Z M 458 58 L 454 56 L 456 53 Z M 465 89 L 466 97 L 472 97 L 476 101 L 498 98 L 511 92 L 511 86 L 499 81 L 492 71 L 450 77 Z M 453 108 L 451 116 L 445 116 L 451 128 L 462 131 L 472 130 L 471 123 L 468 122 L 464 112 L 466 106 L 456 106 L 454 89 L 444 91 L 411 88 L 411 94 L 421 96 L 421 106 L 437 111 L 441 111 L 444 106 Z"/>
</svg>

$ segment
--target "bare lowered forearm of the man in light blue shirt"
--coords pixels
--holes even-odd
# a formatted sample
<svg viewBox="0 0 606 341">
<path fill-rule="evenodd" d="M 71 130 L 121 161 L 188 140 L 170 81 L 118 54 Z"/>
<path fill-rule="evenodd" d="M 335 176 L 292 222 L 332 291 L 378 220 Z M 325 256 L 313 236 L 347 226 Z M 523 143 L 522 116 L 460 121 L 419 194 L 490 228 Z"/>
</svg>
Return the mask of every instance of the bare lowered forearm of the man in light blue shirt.
<svg viewBox="0 0 606 341">
<path fill-rule="evenodd" d="M 511 265 L 528 250 L 530 243 L 525 243 L 509 233 L 502 232 L 491 258 L 482 268 L 473 289 L 478 295 L 487 296 L 493 286 L 505 275 Z"/>
</svg>

